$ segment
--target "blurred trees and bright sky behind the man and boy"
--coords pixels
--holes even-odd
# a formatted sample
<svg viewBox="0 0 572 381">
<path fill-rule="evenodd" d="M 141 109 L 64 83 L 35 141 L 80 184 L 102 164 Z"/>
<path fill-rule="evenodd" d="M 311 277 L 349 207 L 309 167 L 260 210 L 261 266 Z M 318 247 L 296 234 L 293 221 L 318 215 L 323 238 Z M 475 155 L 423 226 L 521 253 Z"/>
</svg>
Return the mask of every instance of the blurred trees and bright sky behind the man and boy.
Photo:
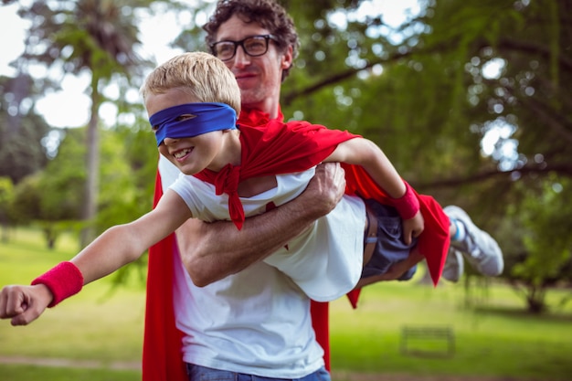
<svg viewBox="0 0 572 381">
<path fill-rule="evenodd" d="M 64 233 L 81 248 L 152 207 L 158 153 L 138 90 L 155 65 L 207 50 L 214 3 L 2 3 L 2 241 L 35 227 L 46 248 Z M 281 4 L 302 41 L 286 118 L 375 141 L 419 193 L 498 240 L 523 311 L 567 305 L 570 292 L 546 294 L 572 281 L 572 1 Z"/>
</svg>

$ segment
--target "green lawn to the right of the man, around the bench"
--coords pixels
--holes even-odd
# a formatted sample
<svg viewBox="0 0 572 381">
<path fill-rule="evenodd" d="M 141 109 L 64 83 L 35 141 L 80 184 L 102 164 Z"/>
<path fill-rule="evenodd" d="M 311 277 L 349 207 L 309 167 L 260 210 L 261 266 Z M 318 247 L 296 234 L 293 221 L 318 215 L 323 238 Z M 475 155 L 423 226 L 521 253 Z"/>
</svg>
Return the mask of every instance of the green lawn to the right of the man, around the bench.
<svg viewBox="0 0 572 381">
<path fill-rule="evenodd" d="M 572 379 L 572 312 L 534 316 L 523 308 L 503 285 L 490 286 L 488 299 L 468 308 L 461 285 L 376 284 L 362 291 L 355 311 L 344 300 L 333 303 L 332 364 L 365 373 Z M 402 353 L 405 326 L 450 327 L 454 354 Z"/>
</svg>

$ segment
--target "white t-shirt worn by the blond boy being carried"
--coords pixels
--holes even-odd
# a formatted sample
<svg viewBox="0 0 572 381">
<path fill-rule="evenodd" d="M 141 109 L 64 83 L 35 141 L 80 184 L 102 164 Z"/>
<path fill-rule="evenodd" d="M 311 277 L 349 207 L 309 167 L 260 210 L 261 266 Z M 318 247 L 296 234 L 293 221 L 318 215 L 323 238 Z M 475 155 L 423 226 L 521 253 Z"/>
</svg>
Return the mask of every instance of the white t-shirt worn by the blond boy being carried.
<svg viewBox="0 0 572 381">
<path fill-rule="evenodd" d="M 314 169 L 276 175 L 275 188 L 257 196 L 240 197 L 245 216 L 259 215 L 270 203 L 281 206 L 300 196 Z M 229 219 L 228 195 L 215 196 L 215 185 L 181 174 L 170 188 L 185 200 L 193 217 L 207 222 Z M 264 261 L 288 275 L 310 299 L 334 301 L 354 289 L 361 276 L 364 225 L 364 202 L 355 196 L 344 196 L 332 212 Z"/>
</svg>

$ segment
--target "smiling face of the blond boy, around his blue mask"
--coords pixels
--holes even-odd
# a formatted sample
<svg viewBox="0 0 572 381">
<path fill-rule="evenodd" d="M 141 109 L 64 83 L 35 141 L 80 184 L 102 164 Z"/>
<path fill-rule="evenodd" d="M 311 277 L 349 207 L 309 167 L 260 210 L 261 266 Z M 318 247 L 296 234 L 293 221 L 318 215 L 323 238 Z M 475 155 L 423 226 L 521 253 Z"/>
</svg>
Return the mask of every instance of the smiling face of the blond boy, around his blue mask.
<svg viewBox="0 0 572 381">
<path fill-rule="evenodd" d="M 162 94 L 148 94 L 145 108 L 149 116 L 158 111 L 179 106 L 185 103 L 195 103 L 196 99 L 179 89 L 167 90 Z M 180 121 L 191 120 L 191 114 L 181 114 Z M 188 138 L 165 137 L 159 145 L 159 153 L 185 175 L 195 175 L 205 168 L 219 171 L 231 163 L 228 152 L 223 150 L 223 135 L 226 131 L 202 133 Z"/>
</svg>

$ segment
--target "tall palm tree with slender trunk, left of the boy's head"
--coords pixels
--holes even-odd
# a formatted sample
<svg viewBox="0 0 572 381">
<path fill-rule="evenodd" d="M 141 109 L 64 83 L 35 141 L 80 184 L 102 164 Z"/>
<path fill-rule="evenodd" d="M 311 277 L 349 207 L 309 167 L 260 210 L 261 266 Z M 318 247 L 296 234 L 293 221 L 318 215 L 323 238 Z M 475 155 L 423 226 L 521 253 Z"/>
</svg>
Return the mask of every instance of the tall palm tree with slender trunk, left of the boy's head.
<svg viewBox="0 0 572 381">
<path fill-rule="evenodd" d="M 150 1 L 41 1 L 29 8 L 22 7 L 20 15 L 32 21 L 29 38 L 34 48 L 26 49 L 24 59 L 58 68 L 65 73 L 78 74 L 88 70 L 91 75 L 90 121 L 86 135 L 87 182 L 83 218 L 89 221 L 96 214 L 99 183 L 99 109 L 101 88 L 114 76 L 130 78 L 143 60 L 134 52 L 139 44 L 135 10 L 147 7 Z M 38 48 L 39 47 L 39 48 Z M 94 236 L 86 229 L 82 245 Z"/>
</svg>

